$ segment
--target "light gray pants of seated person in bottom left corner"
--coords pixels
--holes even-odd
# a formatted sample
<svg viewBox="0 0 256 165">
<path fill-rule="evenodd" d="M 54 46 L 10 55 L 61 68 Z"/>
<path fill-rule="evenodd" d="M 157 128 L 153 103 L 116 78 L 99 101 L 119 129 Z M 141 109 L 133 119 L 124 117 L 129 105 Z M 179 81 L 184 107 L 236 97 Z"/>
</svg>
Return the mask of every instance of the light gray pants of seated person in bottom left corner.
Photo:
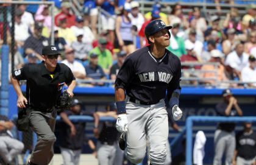
<svg viewBox="0 0 256 165">
<path fill-rule="evenodd" d="M 6 164 L 10 163 L 23 149 L 24 144 L 17 139 L 0 136 L 0 155 Z"/>
</svg>

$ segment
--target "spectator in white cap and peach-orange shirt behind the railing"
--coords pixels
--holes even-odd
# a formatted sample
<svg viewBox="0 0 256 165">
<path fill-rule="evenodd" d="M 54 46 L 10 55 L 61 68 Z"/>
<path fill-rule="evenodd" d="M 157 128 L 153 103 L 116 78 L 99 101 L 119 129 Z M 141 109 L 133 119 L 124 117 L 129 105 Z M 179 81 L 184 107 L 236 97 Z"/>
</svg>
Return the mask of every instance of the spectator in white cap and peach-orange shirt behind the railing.
<svg viewBox="0 0 256 165">
<path fill-rule="evenodd" d="M 202 66 L 202 70 L 203 71 L 210 71 L 210 72 L 202 72 L 201 73 L 201 77 L 202 78 L 209 78 L 209 79 L 215 79 L 215 80 L 201 80 L 201 82 L 203 82 L 205 85 L 216 85 L 216 78 L 217 78 L 217 81 L 227 81 L 227 77 L 225 75 L 225 69 L 224 69 L 224 66 L 221 64 L 221 58 L 224 57 L 224 55 L 221 53 L 221 51 L 215 49 L 215 50 L 212 50 L 210 52 L 211 54 L 211 58 L 210 60 L 208 61 L 209 63 L 219 63 L 219 65 L 217 66 L 218 67 L 218 70 L 217 70 L 217 75 L 215 72 L 213 71 L 216 71 L 216 68 L 215 68 L 215 65 L 203 65 Z"/>
</svg>

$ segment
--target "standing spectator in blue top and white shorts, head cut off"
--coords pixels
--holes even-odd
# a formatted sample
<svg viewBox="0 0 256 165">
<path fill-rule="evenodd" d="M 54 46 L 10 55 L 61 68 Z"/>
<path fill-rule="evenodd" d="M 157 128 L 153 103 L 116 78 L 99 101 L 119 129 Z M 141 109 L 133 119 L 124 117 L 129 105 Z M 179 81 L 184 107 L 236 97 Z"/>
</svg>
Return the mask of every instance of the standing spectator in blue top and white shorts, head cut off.
<svg viewBox="0 0 256 165">
<path fill-rule="evenodd" d="M 104 14 L 101 14 L 101 21 L 102 21 L 102 28 L 103 30 L 108 31 L 108 41 L 110 41 L 112 44 L 115 42 L 115 18 L 116 15 L 114 13 L 115 10 L 115 2 L 114 1 L 101 1 L 96 0 L 96 4 L 101 6 L 102 9 L 104 9 L 108 14 L 111 16 L 107 16 Z"/>
</svg>

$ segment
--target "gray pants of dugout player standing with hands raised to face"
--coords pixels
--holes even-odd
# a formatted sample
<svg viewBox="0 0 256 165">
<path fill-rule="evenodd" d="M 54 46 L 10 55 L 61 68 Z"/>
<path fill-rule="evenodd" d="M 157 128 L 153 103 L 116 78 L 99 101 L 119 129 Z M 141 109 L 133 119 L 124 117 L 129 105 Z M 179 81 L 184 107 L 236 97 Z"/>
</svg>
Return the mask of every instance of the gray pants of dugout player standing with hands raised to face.
<svg viewBox="0 0 256 165">
<path fill-rule="evenodd" d="M 232 158 L 235 152 L 235 132 L 216 130 L 214 135 L 215 156 L 213 165 L 221 165 L 222 156 L 225 152 L 225 165 L 232 165 Z"/>
</svg>

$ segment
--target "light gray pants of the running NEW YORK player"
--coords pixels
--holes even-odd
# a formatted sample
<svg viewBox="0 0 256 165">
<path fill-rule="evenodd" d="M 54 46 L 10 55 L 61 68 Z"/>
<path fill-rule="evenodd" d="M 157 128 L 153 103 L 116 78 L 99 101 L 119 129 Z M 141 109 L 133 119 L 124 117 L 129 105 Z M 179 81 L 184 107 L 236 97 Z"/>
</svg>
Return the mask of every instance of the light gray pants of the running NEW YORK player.
<svg viewBox="0 0 256 165">
<path fill-rule="evenodd" d="M 128 131 L 126 133 L 126 158 L 133 164 L 141 163 L 146 154 L 146 135 L 150 146 L 149 161 L 154 165 L 165 164 L 168 140 L 168 116 L 165 102 L 140 105 L 126 99 Z"/>
</svg>

